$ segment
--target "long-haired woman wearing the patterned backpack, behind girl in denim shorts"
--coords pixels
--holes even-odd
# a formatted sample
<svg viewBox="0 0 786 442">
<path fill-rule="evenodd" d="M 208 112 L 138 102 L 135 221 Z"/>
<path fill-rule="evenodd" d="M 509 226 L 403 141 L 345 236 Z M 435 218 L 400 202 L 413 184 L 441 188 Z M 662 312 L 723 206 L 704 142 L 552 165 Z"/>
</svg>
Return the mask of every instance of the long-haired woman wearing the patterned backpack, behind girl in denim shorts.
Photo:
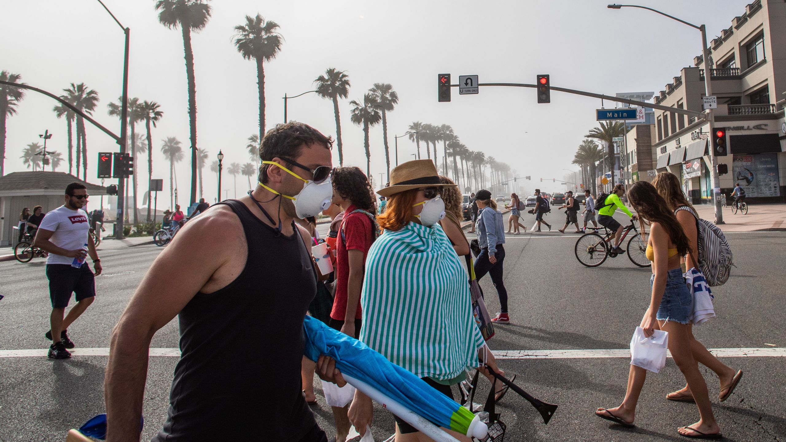
<svg viewBox="0 0 786 442">
<path fill-rule="evenodd" d="M 655 186 L 656 190 L 658 190 L 660 196 L 666 200 L 666 204 L 668 204 L 670 210 L 674 211 L 674 215 L 677 217 L 677 220 L 682 226 L 682 230 L 685 230 L 685 234 L 690 241 L 690 251 L 685 255 L 685 259 L 682 260 L 685 266 L 683 270 L 687 271 L 691 267 L 696 267 L 696 269 L 698 269 L 699 230 L 696 226 L 699 217 L 696 215 L 696 210 L 685 198 L 685 194 L 682 193 L 677 175 L 671 172 L 659 173 L 652 184 Z M 718 374 L 718 378 L 721 381 L 721 392 L 718 399 L 721 400 L 721 402 L 729 399 L 737 383 L 739 383 L 740 378 L 742 378 L 742 370 L 735 371 L 733 368 L 725 365 L 709 352 L 701 342 L 697 341 L 696 337 L 693 337 L 692 324 L 688 326 L 688 336 L 693 359 L 696 359 L 697 362 L 703 364 L 703 366 L 707 366 L 707 368 L 713 370 L 715 374 Z M 685 388 L 667 394 L 666 399 L 692 402 L 693 395 L 690 386 L 685 385 Z"/>
</svg>

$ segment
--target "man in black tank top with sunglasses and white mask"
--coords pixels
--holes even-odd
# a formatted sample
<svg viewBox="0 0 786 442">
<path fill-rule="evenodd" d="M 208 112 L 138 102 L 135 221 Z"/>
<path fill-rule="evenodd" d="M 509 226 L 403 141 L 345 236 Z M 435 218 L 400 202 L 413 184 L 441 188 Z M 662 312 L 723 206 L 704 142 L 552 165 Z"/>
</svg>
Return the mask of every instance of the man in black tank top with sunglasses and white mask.
<svg viewBox="0 0 786 442">
<path fill-rule="evenodd" d="M 175 315 L 182 356 L 154 441 L 326 441 L 301 394 L 316 274 L 310 237 L 292 219 L 321 211 L 321 183 L 332 196 L 331 145 L 303 123 L 268 131 L 253 193 L 214 204 L 156 258 L 112 333 L 108 442 L 139 440 L 150 341 Z M 317 373 L 344 384 L 325 356 Z"/>
</svg>

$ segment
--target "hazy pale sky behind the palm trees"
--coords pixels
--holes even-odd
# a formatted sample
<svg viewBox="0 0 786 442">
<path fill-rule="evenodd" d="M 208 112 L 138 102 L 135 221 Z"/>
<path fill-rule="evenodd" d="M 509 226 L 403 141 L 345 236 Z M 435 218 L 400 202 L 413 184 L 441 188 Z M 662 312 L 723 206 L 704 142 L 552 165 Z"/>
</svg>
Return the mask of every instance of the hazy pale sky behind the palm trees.
<svg viewBox="0 0 786 442">
<path fill-rule="evenodd" d="M 153 0 L 105 3 L 131 29 L 130 97 L 157 101 L 164 112 L 153 130 L 153 178 L 164 179 L 164 201 L 169 167 L 160 153 L 161 140 L 177 137 L 186 150 L 186 160 L 176 166 L 183 201 L 189 194 L 190 155 L 182 35 L 159 23 Z M 573 168 L 571 160 L 582 136 L 597 124 L 593 117 L 600 100 L 555 91 L 551 104 L 538 105 L 534 90 L 486 87 L 478 95 L 463 96 L 454 88 L 452 102 L 438 103 L 436 76 L 450 72 L 454 83 L 459 75 L 474 74 L 482 83 L 534 83 L 543 73 L 556 87 L 608 95 L 657 93 L 700 53 L 700 33 L 695 29 L 642 9 L 607 9 L 607 4 L 215 0 L 210 22 L 192 39 L 197 144 L 211 154 L 208 164 L 219 149 L 226 154 L 225 165 L 250 161 L 244 146 L 258 131 L 256 69 L 237 53 L 232 37 L 233 27 L 242 24 L 245 15 L 261 13 L 280 24 L 285 37 L 281 53 L 266 64 L 267 127 L 283 120 L 285 93 L 312 90 L 314 79 L 334 67 L 346 71 L 352 82 L 349 99 L 339 103 L 345 165 L 365 170 L 362 128 L 351 123 L 348 101 L 362 100 L 373 83 L 391 83 L 399 93 L 399 105 L 388 114 L 391 156 L 393 135 L 405 133 L 413 121 L 447 123 L 469 149 L 505 161 L 519 176 L 531 175 L 533 184 L 540 185 L 539 178 L 560 179 L 563 168 Z M 707 38 L 712 39 L 744 13 L 747 1 L 638 4 L 705 23 Z M 2 16 L 0 70 L 19 73 L 25 83 L 56 94 L 68 83 L 86 83 L 101 98 L 96 119 L 119 133 L 119 122 L 106 114 L 106 105 L 121 94 L 123 32 L 101 5 L 96 0 L 3 0 Z M 54 134 L 47 148 L 67 156 L 65 120 L 57 120 L 51 110 L 56 104 L 28 91 L 18 115 L 8 120 L 6 171 L 27 170 L 21 151 L 39 141 L 45 129 Z M 289 101 L 288 118 L 335 137 L 332 105 L 315 94 Z M 144 125 L 139 129 L 143 131 Z M 88 178 L 98 182 L 97 153 L 117 151 L 118 146 L 88 124 L 87 149 Z M 412 159 L 414 152 L 413 142 L 399 139 L 400 162 Z M 372 172 L 379 181 L 385 171 L 381 125 L 371 131 L 371 153 Z M 338 165 L 335 149 L 333 158 Z M 138 171 L 140 182 L 145 182 L 145 160 L 139 161 Z M 231 175 L 226 175 L 226 168 L 224 172 L 224 188 L 233 189 Z M 216 178 L 207 167 L 204 180 L 205 197 L 212 202 Z M 140 185 L 140 197 L 145 187 L 146 183 Z M 542 185 L 544 190 L 562 187 Z M 245 190 L 248 181 L 239 175 L 238 196 Z"/>
</svg>

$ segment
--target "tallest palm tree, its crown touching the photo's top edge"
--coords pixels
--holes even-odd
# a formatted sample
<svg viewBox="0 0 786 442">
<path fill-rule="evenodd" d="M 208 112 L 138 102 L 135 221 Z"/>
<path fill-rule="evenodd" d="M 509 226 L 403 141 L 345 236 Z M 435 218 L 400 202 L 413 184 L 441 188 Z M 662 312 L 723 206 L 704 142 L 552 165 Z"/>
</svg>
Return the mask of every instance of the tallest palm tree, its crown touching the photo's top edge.
<svg viewBox="0 0 786 442">
<path fill-rule="evenodd" d="M 156 0 L 158 20 L 167 28 L 178 28 L 183 35 L 185 76 L 189 83 L 189 127 L 191 137 L 191 204 L 196 202 L 196 78 L 191 31 L 201 31 L 208 24 L 212 8 L 210 0 Z"/>
</svg>

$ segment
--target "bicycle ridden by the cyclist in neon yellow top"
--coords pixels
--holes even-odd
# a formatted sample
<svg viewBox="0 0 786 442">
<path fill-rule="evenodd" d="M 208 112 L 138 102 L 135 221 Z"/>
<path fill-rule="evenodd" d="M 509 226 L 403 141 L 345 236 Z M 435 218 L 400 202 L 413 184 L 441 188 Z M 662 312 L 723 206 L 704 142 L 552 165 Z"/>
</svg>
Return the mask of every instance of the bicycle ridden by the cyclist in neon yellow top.
<svg viewBox="0 0 786 442">
<path fill-rule="evenodd" d="M 614 258 L 618 255 L 618 253 L 612 252 L 612 241 L 610 241 L 614 236 L 614 232 L 609 231 L 605 227 L 604 230 L 606 233 L 603 236 L 595 231 L 583 234 L 576 240 L 575 255 L 579 263 L 586 267 L 597 267 L 604 263 L 609 256 Z M 623 230 L 623 237 L 619 243 L 622 244 L 625 241 L 630 230 L 636 232 L 634 236 L 630 237 L 626 248 L 630 262 L 638 267 L 650 267 L 652 263 L 647 259 L 646 255 L 647 238 L 645 234 L 639 233 L 633 220 Z"/>
</svg>

